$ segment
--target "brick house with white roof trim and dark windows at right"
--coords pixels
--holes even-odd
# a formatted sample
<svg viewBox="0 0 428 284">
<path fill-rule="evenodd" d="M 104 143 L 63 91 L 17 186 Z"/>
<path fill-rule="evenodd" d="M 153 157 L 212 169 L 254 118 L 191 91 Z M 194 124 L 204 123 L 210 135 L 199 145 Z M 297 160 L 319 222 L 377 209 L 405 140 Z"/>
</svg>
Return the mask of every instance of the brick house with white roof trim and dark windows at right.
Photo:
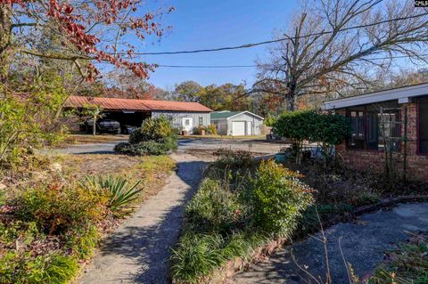
<svg viewBox="0 0 428 284">
<path fill-rule="evenodd" d="M 383 171 L 388 145 L 398 172 L 428 180 L 428 83 L 325 101 L 324 108 L 350 118 L 351 135 L 336 147 L 350 167 Z"/>
</svg>

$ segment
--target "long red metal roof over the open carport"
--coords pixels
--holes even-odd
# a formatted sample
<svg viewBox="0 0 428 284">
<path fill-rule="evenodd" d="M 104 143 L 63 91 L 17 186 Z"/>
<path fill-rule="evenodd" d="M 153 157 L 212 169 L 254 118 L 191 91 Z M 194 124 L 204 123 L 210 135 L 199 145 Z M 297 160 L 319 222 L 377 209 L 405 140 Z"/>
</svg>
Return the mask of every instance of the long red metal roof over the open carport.
<svg viewBox="0 0 428 284">
<path fill-rule="evenodd" d="M 91 105 L 96 105 L 103 110 L 212 111 L 199 102 L 187 101 L 154 101 L 70 96 L 65 102 L 65 107 L 67 108 L 85 108 Z"/>
</svg>

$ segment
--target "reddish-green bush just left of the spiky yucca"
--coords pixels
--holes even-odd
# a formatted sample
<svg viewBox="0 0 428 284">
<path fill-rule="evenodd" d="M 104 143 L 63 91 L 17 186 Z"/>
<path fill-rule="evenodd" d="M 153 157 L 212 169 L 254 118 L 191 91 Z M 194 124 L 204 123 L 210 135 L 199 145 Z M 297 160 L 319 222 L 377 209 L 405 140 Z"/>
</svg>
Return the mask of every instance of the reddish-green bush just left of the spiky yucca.
<svg viewBox="0 0 428 284">
<path fill-rule="evenodd" d="M 101 220 L 107 199 L 105 191 L 88 191 L 79 185 L 50 185 L 30 189 L 16 199 L 16 216 L 37 223 L 40 231 L 56 235 Z"/>
</svg>

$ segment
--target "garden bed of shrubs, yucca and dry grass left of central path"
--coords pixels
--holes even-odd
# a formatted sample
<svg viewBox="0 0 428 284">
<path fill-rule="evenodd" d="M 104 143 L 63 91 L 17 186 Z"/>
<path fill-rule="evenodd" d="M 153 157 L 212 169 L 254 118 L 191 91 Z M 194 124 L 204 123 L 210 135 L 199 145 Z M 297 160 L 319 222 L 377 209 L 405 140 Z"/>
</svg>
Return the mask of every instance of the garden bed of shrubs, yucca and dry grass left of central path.
<svg viewBox="0 0 428 284">
<path fill-rule="evenodd" d="M 159 191 L 174 166 L 168 156 L 62 155 L 3 169 L 0 283 L 68 283 L 103 234 Z"/>
</svg>

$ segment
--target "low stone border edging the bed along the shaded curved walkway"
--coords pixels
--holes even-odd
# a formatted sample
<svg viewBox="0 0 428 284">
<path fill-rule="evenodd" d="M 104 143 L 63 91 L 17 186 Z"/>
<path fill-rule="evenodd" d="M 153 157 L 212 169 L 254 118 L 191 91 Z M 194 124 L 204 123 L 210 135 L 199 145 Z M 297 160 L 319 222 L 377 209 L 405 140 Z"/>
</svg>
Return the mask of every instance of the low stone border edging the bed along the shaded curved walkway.
<svg viewBox="0 0 428 284">
<path fill-rule="evenodd" d="M 395 205 L 397 203 L 405 203 L 405 202 L 422 202 L 428 200 L 428 195 L 413 195 L 413 196 L 399 196 L 396 198 L 389 198 L 389 199 L 381 199 L 376 204 L 373 205 L 367 205 L 363 207 L 357 207 L 354 209 L 351 213 L 353 216 L 363 215 L 366 213 L 374 212 L 377 209 L 383 208 L 383 207 L 389 207 L 391 205 Z M 339 223 L 341 222 L 341 218 L 338 217 L 333 218 L 333 223 Z M 267 245 L 263 247 L 257 248 L 253 254 L 251 255 L 250 259 L 259 259 L 259 258 L 267 258 L 268 256 L 271 256 L 273 253 L 275 253 L 279 248 L 283 247 L 284 244 L 287 242 L 287 239 L 274 239 L 268 242 Z M 236 257 L 233 260 L 229 260 L 223 267 L 219 268 L 215 272 L 213 272 L 209 277 L 202 280 L 202 283 L 210 283 L 210 284 L 222 284 L 226 283 L 227 279 L 230 279 L 233 277 L 237 272 L 241 272 L 243 268 L 253 263 L 252 261 L 248 261 L 244 259 L 243 257 Z"/>
</svg>

